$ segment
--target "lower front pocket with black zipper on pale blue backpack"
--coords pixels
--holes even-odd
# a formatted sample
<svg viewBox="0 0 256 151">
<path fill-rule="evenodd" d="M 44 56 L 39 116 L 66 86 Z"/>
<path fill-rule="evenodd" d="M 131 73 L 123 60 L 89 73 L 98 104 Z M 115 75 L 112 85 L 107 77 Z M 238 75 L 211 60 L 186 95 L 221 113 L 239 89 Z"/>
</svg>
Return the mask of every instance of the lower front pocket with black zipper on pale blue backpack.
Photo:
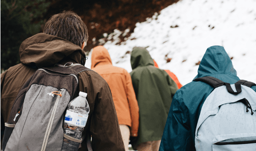
<svg viewBox="0 0 256 151">
<path fill-rule="evenodd" d="M 212 151 L 256 151 L 256 134 L 217 135 L 212 141 Z"/>
</svg>

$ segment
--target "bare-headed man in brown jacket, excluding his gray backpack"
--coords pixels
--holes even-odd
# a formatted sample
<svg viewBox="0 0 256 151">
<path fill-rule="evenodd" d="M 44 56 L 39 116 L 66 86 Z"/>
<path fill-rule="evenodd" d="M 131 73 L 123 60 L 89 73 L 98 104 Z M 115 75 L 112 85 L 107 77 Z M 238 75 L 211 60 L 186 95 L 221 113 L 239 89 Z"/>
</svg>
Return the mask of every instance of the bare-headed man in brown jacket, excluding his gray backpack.
<svg viewBox="0 0 256 151">
<path fill-rule="evenodd" d="M 83 48 L 87 40 L 87 27 L 82 19 L 72 11 L 63 11 L 46 22 L 44 33 L 36 34 L 22 42 L 19 49 L 21 63 L 0 75 L 1 132 L 16 96 L 27 79 L 39 67 L 53 67 L 57 63 L 64 65 L 67 62 L 84 66 Z M 87 93 L 90 107 L 82 135 L 92 136 L 92 150 L 125 151 L 115 106 L 106 81 L 92 70 L 78 73 L 78 81 L 77 91 Z M 87 151 L 86 139 L 82 141 L 79 151 Z"/>
</svg>

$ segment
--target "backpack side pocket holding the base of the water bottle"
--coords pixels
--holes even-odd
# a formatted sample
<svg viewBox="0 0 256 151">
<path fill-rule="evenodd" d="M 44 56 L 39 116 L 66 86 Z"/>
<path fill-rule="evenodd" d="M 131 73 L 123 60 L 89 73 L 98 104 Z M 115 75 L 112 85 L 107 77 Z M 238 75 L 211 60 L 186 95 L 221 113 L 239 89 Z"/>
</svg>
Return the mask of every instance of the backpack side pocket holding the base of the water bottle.
<svg viewBox="0 0 256 151">
<path fill-rule="evenodd" d="M 75 139 L 64 134 L 63 144 L 61 151 L 78 151 L 79 145 L 82 142 L 82 139 Z"/>
</svg>

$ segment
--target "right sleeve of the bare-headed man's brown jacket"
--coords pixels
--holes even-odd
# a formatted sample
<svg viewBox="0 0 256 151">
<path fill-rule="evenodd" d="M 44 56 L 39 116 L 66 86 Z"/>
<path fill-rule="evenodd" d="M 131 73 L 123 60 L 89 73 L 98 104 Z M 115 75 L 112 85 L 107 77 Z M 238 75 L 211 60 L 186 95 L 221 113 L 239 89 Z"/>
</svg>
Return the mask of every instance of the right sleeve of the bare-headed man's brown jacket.
<svg viewBox="0 0 256 151">
<path fill-rule="evenodd" d="M 79 91 L 87 92 L 90 107 L 88 121 L 83 135 L 92 136 L 93 151 L 125 151 L 118 118 L 109 85 L 96 72 L 80 73 Z M 86 139 L 79 151 L 87 151 Z"/>
</svg>

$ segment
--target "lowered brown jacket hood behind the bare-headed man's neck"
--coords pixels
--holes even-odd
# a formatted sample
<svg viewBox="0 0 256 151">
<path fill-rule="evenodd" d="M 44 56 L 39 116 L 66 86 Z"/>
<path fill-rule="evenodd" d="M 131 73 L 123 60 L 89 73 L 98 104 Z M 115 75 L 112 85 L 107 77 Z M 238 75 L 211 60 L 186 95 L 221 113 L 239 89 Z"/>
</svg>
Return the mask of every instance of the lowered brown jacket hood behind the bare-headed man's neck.
<svg viewBox="0 0 256 151">
<path fill-rule="evenodd" d="M 28 66 L 47 67 L 59 63 L 62 59 L 71 59 L 81 63 L 85 54 L 81 47 L 63 38 L 39 33 L 27 38 L 19 48 L 21 63 Z M 85 61 L 82 63 L 84 64 Z"/>
</svg>

